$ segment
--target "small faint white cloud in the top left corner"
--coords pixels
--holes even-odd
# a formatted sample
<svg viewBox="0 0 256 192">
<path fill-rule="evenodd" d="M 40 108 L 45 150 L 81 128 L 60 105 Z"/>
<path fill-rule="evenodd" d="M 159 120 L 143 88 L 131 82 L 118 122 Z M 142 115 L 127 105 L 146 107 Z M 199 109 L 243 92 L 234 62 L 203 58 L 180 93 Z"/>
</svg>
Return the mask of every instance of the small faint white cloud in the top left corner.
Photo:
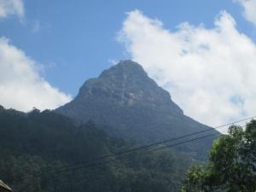
<svg viewBox="0 0 256 192">
<path fill-rule="evenodd" d="M 24 15 L 24 5 L 22 0 L 0 0 L 0 19 L 9 15 Z"/>
</svg>

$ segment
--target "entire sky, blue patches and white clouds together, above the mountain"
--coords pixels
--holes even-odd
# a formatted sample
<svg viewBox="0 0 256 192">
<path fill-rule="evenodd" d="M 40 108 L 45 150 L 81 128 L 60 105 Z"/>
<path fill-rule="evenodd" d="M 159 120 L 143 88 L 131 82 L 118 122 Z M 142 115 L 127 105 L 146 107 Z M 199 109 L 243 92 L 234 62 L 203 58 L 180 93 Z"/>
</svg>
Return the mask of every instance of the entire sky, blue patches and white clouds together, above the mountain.
<svg viewBox="0 0 256 192">
<path fill-rule="evenodd" d="M 0 0 L 5 108 L 57 108 L 124 59 L 204 124 L 256 115 L 256 0 Z"/>
</svg>

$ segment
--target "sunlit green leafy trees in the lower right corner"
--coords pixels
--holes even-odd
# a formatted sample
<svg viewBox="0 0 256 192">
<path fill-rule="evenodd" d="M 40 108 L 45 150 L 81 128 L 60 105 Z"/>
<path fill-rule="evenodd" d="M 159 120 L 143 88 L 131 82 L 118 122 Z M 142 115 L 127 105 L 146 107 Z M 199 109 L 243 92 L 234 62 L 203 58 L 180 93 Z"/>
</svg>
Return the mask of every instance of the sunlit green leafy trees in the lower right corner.
<svg viewBox="0 0 256 192">
<path fill-rule="evenodd" d="M 189 169 L 183 192 L 213 191 L 256 191 L 256 120 L 245 130 L 230 126 L 229 135 L 213 143 L 209 163 Z"/>
</svg>

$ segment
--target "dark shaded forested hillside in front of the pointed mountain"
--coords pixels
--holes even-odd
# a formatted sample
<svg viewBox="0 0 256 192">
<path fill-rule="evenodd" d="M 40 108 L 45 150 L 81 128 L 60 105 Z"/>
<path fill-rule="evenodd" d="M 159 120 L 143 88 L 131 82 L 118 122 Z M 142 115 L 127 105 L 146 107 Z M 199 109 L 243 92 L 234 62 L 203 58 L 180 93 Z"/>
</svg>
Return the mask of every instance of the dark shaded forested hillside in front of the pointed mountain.
<svg viewBox="0 0 256 192">
<path fill-rule="evenodd" d="M 133 143 L 108 137 L 91 121 L 76 126 L 49 110 L 20 113 L 0 109 L 0 178 L 14 191 L 180 190 L 191 159 L 172 150 L 137 151 L 112 157 L 108 160 L 113 161 L 100 166 L 63 167 L 133 147 Z"/>
</svg>

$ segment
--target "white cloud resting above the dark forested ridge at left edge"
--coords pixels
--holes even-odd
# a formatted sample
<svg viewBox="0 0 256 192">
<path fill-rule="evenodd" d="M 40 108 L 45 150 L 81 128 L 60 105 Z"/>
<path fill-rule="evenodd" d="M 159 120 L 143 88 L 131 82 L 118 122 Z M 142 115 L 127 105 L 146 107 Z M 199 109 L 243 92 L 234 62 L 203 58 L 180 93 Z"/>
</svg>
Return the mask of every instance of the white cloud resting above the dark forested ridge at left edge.
<svg viewBox="0 0 256 192">
<path fill-rule="evenodd" d="M 0 38 L 0 105 L 28 111 L 53 109 L 71 100 L 40 77 L 37 66 L 7 38 Z"/>
</svg>

